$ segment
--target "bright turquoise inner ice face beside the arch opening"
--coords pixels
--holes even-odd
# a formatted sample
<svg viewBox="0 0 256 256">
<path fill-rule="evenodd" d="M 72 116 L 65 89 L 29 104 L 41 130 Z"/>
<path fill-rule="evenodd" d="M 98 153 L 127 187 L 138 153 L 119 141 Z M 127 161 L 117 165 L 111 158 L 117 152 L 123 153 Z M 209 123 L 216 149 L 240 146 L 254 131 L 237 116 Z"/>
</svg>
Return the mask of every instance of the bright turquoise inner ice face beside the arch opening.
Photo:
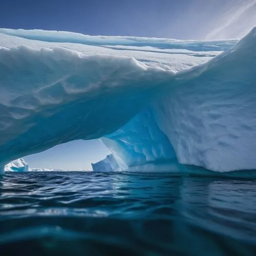
<svg viewBox="0 0 256 256">
<path fill-rule="evenodd" d="M 176 159 L 167 136 L 159 129 L 152 109 L 144 109 L 115 133 L 101 138 L 122 169 Z"/>
</svg>

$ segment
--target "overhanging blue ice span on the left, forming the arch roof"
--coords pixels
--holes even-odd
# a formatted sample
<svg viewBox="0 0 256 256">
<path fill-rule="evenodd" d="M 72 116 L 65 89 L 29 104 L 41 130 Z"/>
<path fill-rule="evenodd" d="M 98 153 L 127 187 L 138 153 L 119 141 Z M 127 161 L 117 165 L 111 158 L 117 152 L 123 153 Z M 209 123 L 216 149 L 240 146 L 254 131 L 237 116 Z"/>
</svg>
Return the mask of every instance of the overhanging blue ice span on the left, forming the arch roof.
<svg viewBox="0 0 256 256">
<path fill-rule="evenodd" d="M 174 73 L 130 57 L 0 50 L 0 166 L 56 144 L 110 134 Z"/>
</svg>

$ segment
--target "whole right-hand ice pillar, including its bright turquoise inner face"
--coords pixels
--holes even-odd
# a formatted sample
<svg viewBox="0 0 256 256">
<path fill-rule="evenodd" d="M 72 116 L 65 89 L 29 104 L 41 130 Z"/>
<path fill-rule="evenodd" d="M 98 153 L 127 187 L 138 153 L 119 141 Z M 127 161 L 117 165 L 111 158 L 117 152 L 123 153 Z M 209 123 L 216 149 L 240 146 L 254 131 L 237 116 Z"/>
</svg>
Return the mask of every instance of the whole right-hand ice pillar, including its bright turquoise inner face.
<svg viewBox="0 0 256 256">
<path fill-rule="evenodd" d="M 169 163 L 182 172 L 177 156 L 180 164 L 217 172 L 255 169 L 255 42 L 254 29 L 229 51 L 178 73 L 184 83 L 103 138 L 120 166 L 159 170 Z"/>
</svg>

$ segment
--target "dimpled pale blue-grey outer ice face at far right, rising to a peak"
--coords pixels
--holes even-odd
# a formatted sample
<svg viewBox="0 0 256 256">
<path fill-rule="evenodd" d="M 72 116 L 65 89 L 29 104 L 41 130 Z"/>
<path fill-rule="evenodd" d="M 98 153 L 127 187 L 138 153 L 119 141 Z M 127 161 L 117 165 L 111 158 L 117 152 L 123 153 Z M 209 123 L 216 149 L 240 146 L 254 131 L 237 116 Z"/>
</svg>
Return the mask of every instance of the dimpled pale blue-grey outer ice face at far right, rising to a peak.
<svg viewBox="0 0 256 256">
<path fill-rule="evenodd" d="M 153 106 L 179 162 L 217 172 L 256 169 L 256 29 L 180 75 L 188 80 Z"/>
</svg>

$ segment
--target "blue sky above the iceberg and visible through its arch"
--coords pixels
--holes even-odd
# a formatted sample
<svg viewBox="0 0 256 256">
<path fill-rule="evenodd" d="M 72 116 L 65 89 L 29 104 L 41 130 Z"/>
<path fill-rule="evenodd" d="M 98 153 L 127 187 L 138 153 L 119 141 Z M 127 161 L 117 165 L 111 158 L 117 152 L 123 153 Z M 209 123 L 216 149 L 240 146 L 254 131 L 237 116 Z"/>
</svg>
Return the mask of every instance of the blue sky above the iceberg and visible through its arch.
<svg viewBox="0 0 256 256">
<path fill-rule="evenodd" d="M 256 0 L 3 0 L 0 27 L 176 39 L 241 38 L 256 26 Z M 89 169 L 109 150 L 75 141 L 25 158 L 31 167 Z"/>
</svg>

